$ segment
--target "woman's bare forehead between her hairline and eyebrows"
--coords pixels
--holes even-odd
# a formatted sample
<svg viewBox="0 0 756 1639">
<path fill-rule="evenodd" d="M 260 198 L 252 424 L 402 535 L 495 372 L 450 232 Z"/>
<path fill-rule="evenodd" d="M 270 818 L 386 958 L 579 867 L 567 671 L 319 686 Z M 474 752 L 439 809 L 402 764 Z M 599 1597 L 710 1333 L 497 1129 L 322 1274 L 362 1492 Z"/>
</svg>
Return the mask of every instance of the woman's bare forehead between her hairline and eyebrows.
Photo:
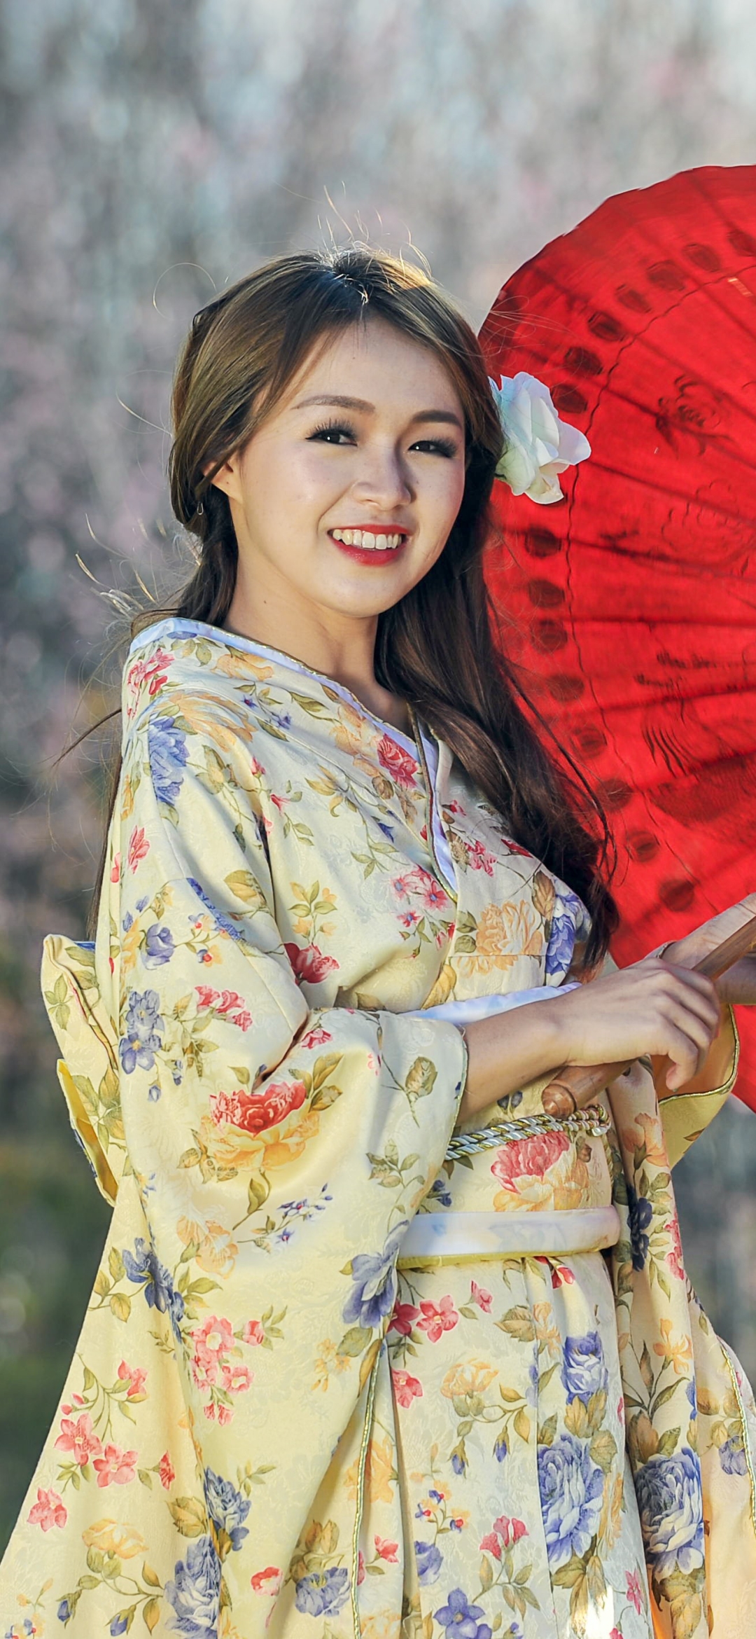
<svg viewBox="0 0 756 1639">
<path fill-rule="evenodd" d="M 363 398 L 376 410 L 461 413 L 457 387 L 439 354 L 381 318 L 316 343 L 286 393 L 286 405 L 313 393 Z"/>
</svg>

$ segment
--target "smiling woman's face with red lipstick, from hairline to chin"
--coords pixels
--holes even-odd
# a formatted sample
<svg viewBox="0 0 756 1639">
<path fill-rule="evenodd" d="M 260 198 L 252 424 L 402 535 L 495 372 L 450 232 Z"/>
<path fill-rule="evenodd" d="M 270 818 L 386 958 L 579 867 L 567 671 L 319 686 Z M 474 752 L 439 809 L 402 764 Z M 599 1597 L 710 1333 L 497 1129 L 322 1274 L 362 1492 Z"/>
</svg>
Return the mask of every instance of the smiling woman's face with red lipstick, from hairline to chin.
<svg viewBox="0 0 756 1639">
<path fill-rule="evenodd" d="M 316 352 L 214 482 L 257 605 L 371 620 L 443 551 L 465 488 L 461 403 L 429 347 L 368 320 Z"/>
</svg>

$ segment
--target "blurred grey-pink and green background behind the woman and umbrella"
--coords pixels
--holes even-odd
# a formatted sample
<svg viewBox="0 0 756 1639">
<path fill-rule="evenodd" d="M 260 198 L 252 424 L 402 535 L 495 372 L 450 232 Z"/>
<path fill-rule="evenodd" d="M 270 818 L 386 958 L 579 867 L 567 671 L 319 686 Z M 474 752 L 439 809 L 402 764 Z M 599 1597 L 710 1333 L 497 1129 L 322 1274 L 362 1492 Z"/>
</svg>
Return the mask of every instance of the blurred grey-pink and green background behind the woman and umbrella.
<svg viewBox="0 0 756 1639">
<path fill-rule="evenodd" d="M 54 762 L 113 705 L 124 623 L 103 593 L 144 603 L 136 575 L 152 595 L 182 575 L 178 341 L 214 290 L 349 231 L 419 246 L 479 325 L 609 193 L 756 162 L 756 11 L 3 0 L 0 38 L 2 1549 L 106 1226 L 38 993 L 43 934 L 83 936 L 103 775 L 92 744 Z M 751 1375 L 754 1185 L 756 1119 L 731 1101 L 677 1193 L 691 1277 Z"/>
</svg>

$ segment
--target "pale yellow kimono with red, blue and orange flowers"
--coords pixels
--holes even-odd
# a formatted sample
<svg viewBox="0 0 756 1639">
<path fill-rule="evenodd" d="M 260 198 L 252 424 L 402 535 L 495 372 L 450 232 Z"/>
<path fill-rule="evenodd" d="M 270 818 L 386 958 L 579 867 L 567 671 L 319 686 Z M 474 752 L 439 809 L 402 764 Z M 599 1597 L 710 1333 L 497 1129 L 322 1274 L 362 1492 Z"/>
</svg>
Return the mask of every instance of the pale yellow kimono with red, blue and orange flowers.
<svg viewBox="0 0 756 1639">
<path fill-rule="evenodd" d="M 458 1023 L 574 980 L 579 900 L 260 644 L 152 626 L 123 721 L 97 941 L 43 967 L 113 1221 L 0 1632 L 756 1632 L 753 1396 L 669 1177 L 735 1062 L 460 1129 Z"/>
</svg>

